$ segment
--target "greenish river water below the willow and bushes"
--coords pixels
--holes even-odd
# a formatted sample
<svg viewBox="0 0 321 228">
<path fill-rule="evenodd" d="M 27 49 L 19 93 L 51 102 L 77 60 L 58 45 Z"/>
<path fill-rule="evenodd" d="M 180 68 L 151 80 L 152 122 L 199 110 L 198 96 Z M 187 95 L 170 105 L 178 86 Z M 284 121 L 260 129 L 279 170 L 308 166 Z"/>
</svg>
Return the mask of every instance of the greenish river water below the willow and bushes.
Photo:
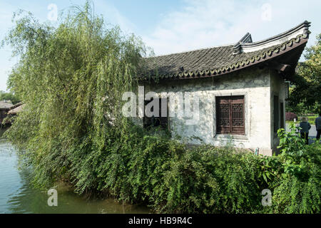
<svg viewBox="0 0 321 228">
<path fill-rule="evenodd" d="M 30 171 L 18 170 L 14 147 L 0 138 L 0 213 L 149 213 L 147 207 L 123 205 L 113 199 L 88 200 L 70 187 L 56 186 L 58 206 L 49 207 L 47 191 L 31 187 Z"/>
</svg>

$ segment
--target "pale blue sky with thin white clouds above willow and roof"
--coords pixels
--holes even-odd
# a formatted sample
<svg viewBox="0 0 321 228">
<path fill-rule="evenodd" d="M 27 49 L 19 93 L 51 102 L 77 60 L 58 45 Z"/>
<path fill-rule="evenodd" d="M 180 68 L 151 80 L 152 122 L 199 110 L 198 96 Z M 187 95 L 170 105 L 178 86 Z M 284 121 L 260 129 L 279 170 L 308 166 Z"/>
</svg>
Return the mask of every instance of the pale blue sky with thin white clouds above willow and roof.
<svg viewBox="0 0 321 228">
<path fill-rule="evenodd" d="M 0 40 L 13 26 L 14 11 L 31 11 L 40 21 L 49 21 L 50 4 L 58 11 L 85 0 L 0 0 Z M 198 48 L 236 43 L 245 33 L 253 41 L 274 36 L 311 21 L 308 46 L 321 33 L 320 0 L 93 0 L 96 14 L 111 24 L 118 24 L 125 33 L 141 36 L 156 55 L 190 51 Z M 52 22 L 55 24 L 55 22 Z M 304 60 L 301 58 L 301 61 Z M 0 90 L 17 59 L 11 48 L 0 49 Z"/>
</svg>

